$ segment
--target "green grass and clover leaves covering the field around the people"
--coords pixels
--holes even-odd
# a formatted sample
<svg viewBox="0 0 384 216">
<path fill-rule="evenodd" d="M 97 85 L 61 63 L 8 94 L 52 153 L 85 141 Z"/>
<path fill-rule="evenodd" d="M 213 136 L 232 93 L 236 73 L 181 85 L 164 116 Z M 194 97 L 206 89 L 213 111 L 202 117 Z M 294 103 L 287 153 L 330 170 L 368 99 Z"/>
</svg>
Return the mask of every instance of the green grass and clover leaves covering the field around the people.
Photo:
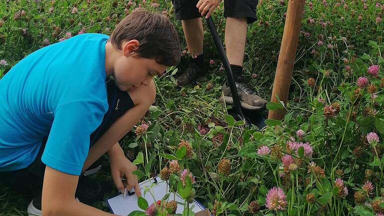
<svg viewBox="0 0 384 216">
<path fill-rule="evenodd" d="M 57 42 L 65 32 L 75 35 L 81 27 L 84 27 L 86 32 L 109 33 L 118 19 L 124 16 L 126 2 L 91 0 L 87 4 L 86 1 L 80 0 L 55 1 L 52 13 L 49 12 L 51 2 L 46 0 L 0 2 L 0 14 L 6 19 L 0 26 L 0 35 L 3 35 L 0 36 L 0 59 L 5 59 L 9 64 L 0 67 L 0 70 L 6 72 L 23 56 L 42 47 L 45 38 L 50 43 Z M 170 1 L 157 2 L 159 7 L 152 7 L 150 2 L 146 2 L 143 7 L 150 10 L 164 10 L 169 15 L 183 41 L 182 49 L 184 49 L 186 45 L 181 23 L 174 18 Z M 376 22 L 381 8 L 376 7 L 374 1 L 366 2 L 366 9 L 360 0 L 346 2 L 346 9 L 343 3 L 338 6 L 338 2 L 328 0 L 327 6 L 324 6 L 320 1 L 313 1 L 313 9 L 309 8 L 308 2 L 305 4 L 289 97 L 285 104 L 287 116 L 280 125 L 267 127 L 262 133 L 258 133 L 242 125 L 230 125 L 230 119 L 224 118 L 225 106 L 218 98 L 225 76 L 223 71 L 219 71 L 221 67 L 219 56 L 205 27 L 205 60 L 215 60 L 214 64 L 209 65 L 209 73 L 205 79 L 188 88 L 178 87 L 172 74 L 175 71 L 174 67 L 169 68 L 161 77 L 156 77 L 157 95 L 153 104 L 156 109 L 151 109 L 144 118 L 150 127 L 147 133 L 141 136 L 136 136 L 133 132 L 127 134 L 121 140 L 123 149 L 132 150 L 135 155 L 142 152 L 144 161 L 152 160 L 150 171 L 146 173 L 149 175 L 158 173 L 167 164 L 167 161 L 162 161 L 163 158 L 156 155 L 157 153 L 174 153 L 180 138 L 189 140 L 195 154 L 192 159 L 187 160 L 187 163 L 196 177 L 196 197 L 210 207 L 215 199 L 220 200 L 223 203 L 221 210 L 227 214 L 236 214 L 235 210 L 241 215 L 249 214 L 247 206 L 250 201 L 258 200 L 262 203 L 265 201 L 266 189 L 273 186 L 282 187 L 287 194 L 289 211 L 285 211 L 285 214 L 294 215 L 294 212 L 299 212 L 299 215 L 316 215 L 322 204 L 326 204 L 328 215 L 346 215 L 348 212 L 351 214 L 355 206 L 353 191 L 361 188 L 361 184 L 366 180 L 364 171 L 368 168 L 374 172 L 368 180 L 375 182 L 374 195 L 368 201 L 379 198 L 384 160 L 374 158 L 372 146 L 364 141 L 364 136 L 370 131 L 376 131 L 380 136 L 384 132 L 381 129 L 384 119 L 382 113 L 384 97 L 381 95 L 382 87 L 379 80 L 382 75 L 379 73 L 378 78 L 367 75 L 369 65 L 378 64 L 382 67 L 383 63 L 382 21 Z M 286 3 L 287 1 L 282 5 L 277 0 L 263 0 L 257 7 L 259 20 L 248 26 L 244 75 L 248 77 L 256 92 L 267 100 L 270 100 L 272 91 Z M 73 6 L 78 8 L 78 13 L 70 12 Z M 129 10 L 132 8 L 133 6 Z M 24 9 L 26 15 L 14 20 L 14 13 L 19 9 Z M 362 16 L 361 21 L 358 18 L 359 14 Z M 107 20 L 108 16 L 110 20 Z M 222 4 L 212 16 L 219 36 L 223 40 L 225 19 Z M 315 20 L 314 24 L 309 23 L 309 17 Z M 321 24 L 327 21 L 329 23 L 326 26 Z M 26 29 L 25 34 L 22 33 L 23 28 Z M 310 35 L 304 36 L 305 32 L 309 32 Z M 323 45 L 317 44 L 319 40 L 323 41 Z M 332 48 L 328 48 L 328 44 L 331 44 Z M 187 55 L 183 56 L 180 65 L 187 64 L 188 59 Z M 349 65 L 352 71 L 347 71 L 346 65 Z M 256 73 L 257 76 L 251 78 L 252 73 Z M 359 103 L 353 105 L 356 99 L 353 97 L 355 82 L 363 75 L 369 77 L 369 81 L 377 86 L 377 99 L 373 103 L 370 93 L 363 89 Z M 314 88 L 307 84 L 309 77 L 315 80 Z M 212 85 L 211 89 L 206 88 L 208 83 Z M 325 99 L 325 104 L 317 102 L 319 97 Z M 339 113 L 334 117 L 324 118 L 324 105 L 333 102 L 339 103 Z M 366 107 L 375 108 L 376 115 L 364 113 Z M 352 112 L 356 112 L 355 118 L 348 117 Z M 266 115 L 267 111 L 263 114 Z M 215 126 L 210 127 L 208 133 L 200 134 L 198 126 L 207 127 L 208 121 L 214 121 Z M 217 127 L 218 124 L 222 127 Z M 290 179 L 278 177 L 280 171 L 278 167 L 281 165 L 279 158 L 259 157 L 255 155 L 255 151 L 261 145 L 268 147 L 278 145 L 285 153 L 286 140 L 289 136 L 294 136 L 299 128 L 305 131 L 303 141 L 310 142 L 313 147 L 313 161 L 323 168 L 326 178 L 315 187 L 305 186 L 301 182 L 304 181 L 302 178 L 313 177 L 307 173 L 306 162 L 309 161 L 305 161 L 292 175 L 295 179 L 292 189 Z M 223 135 L 223 141 L 219 144 L 214 138 L 218 134 Z M 243 141 L 239 141 L 240 137 Z M 135 147 L 129 147 L 131 143 L 136 143 L 137 146 L 133 144 L 131 146 Z M 147 143 L 147 147 L 141 147 L 142 143 Z M 354 151 L 357 146 L 362 147 L 360 156 L 356 156 Z M 377 148 L 380 152 L 382 144 L 379 143 Z M 217 164 L 222 158 L 231 160 L 231 173 L 227 177 L 221 176 L 222 182 L 216 182 L 212 180 L 210 173 L 217 172 Z M 103 157 L 102 162 L 104 168 L 97 175 L 110 179 L 107 158 Z M 144 170 L 144 164 L 139 165 L 140 170 Z M 342 170 L 343 176 L 336 174 L 336 169 Z M 349 195 L 345 199 L 332 196 L 325 202 L 320 199 L 312 205 L 305 201 L 305 195 L 309 192 L 314 193 L 316 198 L 323 197 L 326 192 L 332 192 L 336 177 L 342 177 L 344 184 L 348 186 Z M 141 180 L 144 178 L 145 176 L 142 176 Z M 24 211 L 30 197 L 16 196 L 4 187 L 1 187 L 0 191 L 0 212 L 2 212 L 0 215 L 26 215 Z M 292 195 L 295 197 L 293 200 L 290 198 Z M 233 203 L 236 209 L 226 208 L 229 203 Z M 263 204 L 261 205 L 263 207 Z M 95 206 L 107 210 L 105 203 L 95 203 Z M 263 214 L 272 212 L 262 208 Z"/>
</svg>

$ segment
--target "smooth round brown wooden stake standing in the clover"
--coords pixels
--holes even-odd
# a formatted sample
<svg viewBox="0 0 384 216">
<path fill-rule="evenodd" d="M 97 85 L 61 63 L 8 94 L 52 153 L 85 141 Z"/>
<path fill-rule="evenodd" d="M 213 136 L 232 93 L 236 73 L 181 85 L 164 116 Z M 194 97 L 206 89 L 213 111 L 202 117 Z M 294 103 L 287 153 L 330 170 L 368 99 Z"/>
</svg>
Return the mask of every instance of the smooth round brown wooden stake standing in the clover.
<svg viewBox="0 0 384 216">
<path fill-rule="evenodd" d="M 273 82 L 271 98 L 273 102 L 278 102 L 276 95 L 280 100 L 284 101 L 284 104 L 286 104 L 288 98 L 304 4 L 305 0 L 288 0 L 284 32 L 282 33 L 280 53 Z M 269 110 L 268 118 L 281 120 L 284 118 L 284 113 L 284 109 Z"/>
</svg>

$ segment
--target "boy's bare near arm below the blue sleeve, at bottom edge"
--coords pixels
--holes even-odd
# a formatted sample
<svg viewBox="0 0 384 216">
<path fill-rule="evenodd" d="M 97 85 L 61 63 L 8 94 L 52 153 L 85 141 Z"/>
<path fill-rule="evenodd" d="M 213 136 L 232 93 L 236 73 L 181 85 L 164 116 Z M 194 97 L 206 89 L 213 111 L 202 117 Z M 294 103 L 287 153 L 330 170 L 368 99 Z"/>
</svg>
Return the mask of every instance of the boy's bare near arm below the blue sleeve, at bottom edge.
<svg viewBox="0 0 384 216">
<path fill-rule="evenodd" d="M 77 181 L 78 175 L 66 174 L 46 166 L 41 198 L 44 216 L 115 215 L 78 202 L 74 197 Z"/>
</svg>

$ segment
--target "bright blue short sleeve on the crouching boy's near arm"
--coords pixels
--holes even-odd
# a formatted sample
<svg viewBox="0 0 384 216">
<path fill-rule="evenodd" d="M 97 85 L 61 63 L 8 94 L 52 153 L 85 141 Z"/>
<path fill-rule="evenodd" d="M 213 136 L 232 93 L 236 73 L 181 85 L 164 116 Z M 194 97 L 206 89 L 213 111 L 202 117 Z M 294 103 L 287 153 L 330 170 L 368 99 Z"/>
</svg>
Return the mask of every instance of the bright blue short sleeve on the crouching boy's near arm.
<svg viewBox="0 0 384 216">
<path fill-rule="evenodd" d="M 46 165 L 79 175 L 89 150 L 89 136 L 101 123 L 107 110 L 96 100 L 76 100 L 60 105 L 54 119 L 41 160 Z"/>
</svg>

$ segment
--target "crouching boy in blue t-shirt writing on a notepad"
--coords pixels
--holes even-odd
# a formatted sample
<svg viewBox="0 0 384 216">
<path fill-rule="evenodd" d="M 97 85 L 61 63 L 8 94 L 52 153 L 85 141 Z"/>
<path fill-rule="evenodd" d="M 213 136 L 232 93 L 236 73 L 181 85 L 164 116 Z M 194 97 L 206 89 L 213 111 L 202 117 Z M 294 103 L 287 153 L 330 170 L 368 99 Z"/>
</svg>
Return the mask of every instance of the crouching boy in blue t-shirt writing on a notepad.
<svg viewBox="0 0 384 216">
<path fill-rule="evenodd" d="M 180 42 L 169 19 L 135 10 L 109 38 L 81 34 L 46 46 L 0 79 L 0 175 L 43 178 L 41 211 L 32 201 L 29 215 L 111 215 L 75 199 L 79 174 L 105 152 L 116 188 L 124 190 L 125 176 L 126 189 L 140 195 L 131 174 L 136 167 L 117 141 L 152 104 L 152 77 L 179 60 Z"/>
</svg>

